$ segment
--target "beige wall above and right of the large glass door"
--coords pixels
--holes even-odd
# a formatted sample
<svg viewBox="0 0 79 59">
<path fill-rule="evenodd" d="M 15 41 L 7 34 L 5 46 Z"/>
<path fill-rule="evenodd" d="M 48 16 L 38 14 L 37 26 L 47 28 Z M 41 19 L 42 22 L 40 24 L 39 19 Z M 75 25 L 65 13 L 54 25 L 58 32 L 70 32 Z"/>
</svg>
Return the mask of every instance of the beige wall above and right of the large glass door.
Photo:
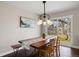
<svg viewBox="0 0 79 59">
<path fill-rule="evenodd" d="M 79 47 L 79 8 L 63 11 L 60 13 L 51 13 L 51 18 L 73 15 L 72 19 L 72 45 Z"/>
</svg>

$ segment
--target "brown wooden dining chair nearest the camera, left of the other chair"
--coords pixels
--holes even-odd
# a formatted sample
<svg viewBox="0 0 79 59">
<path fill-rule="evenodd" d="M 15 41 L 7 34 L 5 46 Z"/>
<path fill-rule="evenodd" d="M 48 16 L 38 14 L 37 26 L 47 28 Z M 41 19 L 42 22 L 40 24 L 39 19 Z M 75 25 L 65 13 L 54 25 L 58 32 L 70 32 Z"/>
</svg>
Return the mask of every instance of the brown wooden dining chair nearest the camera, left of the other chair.
<svg viewBox="0 0 79 59">
<path fill-rule="evenodd" d="M 46 56 L 46 57 L 50 57 L 52 56 L 52 54 L 54 55 L 54 44 L 55 44 L 55 40 L 51 40 L 47 45 L 43 46 L 40 50 L 39 50 L 39 55 L 42 56 Z"/>
</svg>

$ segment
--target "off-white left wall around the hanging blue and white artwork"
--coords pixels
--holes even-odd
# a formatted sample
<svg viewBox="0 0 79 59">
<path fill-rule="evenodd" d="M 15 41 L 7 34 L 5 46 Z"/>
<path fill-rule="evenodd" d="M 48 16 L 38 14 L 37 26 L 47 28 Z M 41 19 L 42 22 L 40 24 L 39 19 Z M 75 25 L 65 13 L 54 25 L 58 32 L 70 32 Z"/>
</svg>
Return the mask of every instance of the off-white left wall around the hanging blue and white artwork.
<svg viewBox="0 0 79 59">
<path fill-rule="evenodd" d="M 28 11 L 0 4 L 0 54 L 12 50 L 10 46 L 17 44 L 19 40 L 40 36 L 40 27 L 36 23 L 34 28 L 20 28 L 20 16 L 37 21 L 37 16 Z"/>
</svg>

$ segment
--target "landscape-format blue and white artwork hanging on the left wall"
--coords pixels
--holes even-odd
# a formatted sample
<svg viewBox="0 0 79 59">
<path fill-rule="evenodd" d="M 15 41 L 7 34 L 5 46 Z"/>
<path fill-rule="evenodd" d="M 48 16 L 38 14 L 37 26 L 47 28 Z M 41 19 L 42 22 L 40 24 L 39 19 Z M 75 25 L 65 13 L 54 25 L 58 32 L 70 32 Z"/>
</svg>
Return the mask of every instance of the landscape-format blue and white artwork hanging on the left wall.
<svg viewBox="0 0 79 59">
<path fill-rule="evenodd" d="M 20 16 L 20 27 L 21 28 L 33 28 L 34 20 Z"/>
</svg>

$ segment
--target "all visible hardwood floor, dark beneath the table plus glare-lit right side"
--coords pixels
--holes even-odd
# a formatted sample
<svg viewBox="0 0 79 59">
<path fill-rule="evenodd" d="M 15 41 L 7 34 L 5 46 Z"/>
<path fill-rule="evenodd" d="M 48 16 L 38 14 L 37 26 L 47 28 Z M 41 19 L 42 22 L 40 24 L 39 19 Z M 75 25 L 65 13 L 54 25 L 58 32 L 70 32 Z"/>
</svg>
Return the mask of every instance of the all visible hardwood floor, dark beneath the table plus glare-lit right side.
<svg viewBox="0 0 79 59">
<path fill-rule="evenodd" d="M 26 53 L 25 53 L 26 51 Z M 38 54 L 31 54 L 33 50 L 20 50 L 18 53 L 8 54 L 3 57 L 38 57 Z M 53 57 L 53 56 L 52 56 Z M 79 49 L 60 46 L 60 57 L 79 57 Z"/>
</svg>

